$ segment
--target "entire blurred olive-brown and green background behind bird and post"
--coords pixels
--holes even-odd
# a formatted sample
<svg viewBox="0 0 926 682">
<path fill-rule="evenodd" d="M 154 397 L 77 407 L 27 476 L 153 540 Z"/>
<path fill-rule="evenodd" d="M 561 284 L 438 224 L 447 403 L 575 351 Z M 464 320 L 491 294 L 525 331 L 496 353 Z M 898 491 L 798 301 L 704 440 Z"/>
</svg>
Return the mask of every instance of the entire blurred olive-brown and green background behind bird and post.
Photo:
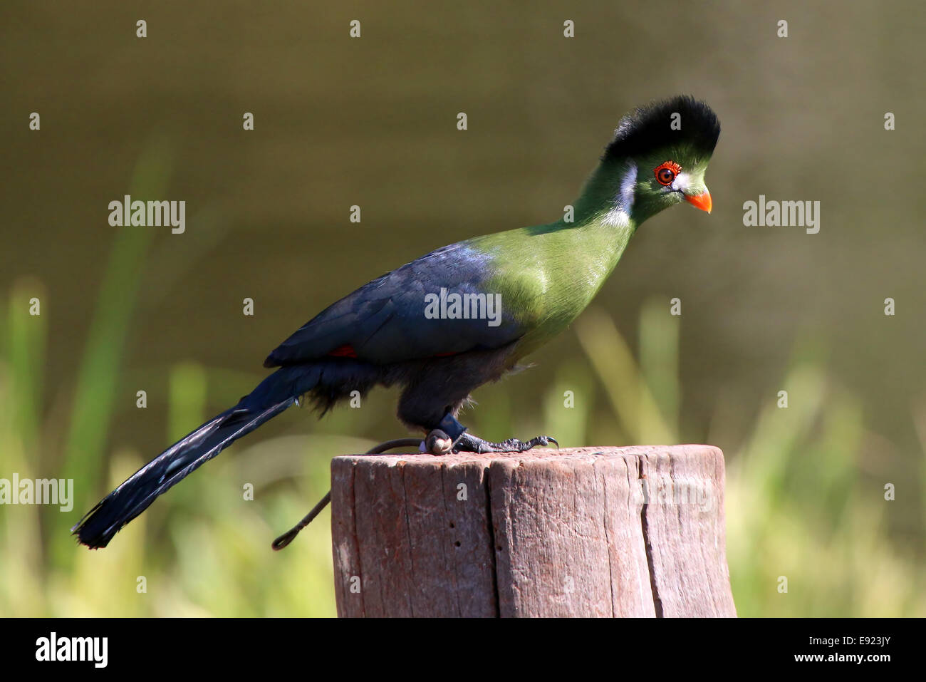
<svg viewBox="0 0 926 682">
<path fill-rule="evenodd" d="M 329 512 L 269 543 L 333 456 L 406 436 L 389 391 L 321 422 L 285 412 L 105 550 L 69 528 L 320 309 L 434 247 L 557 220 L 625 111 L 690 93 L 722 123 L 713 214 L 645 223 L 593 308 L 465 421 L 565 447 L 719 446 L 741 615 L 926 615 L 924 14 L 3 3 L 0 477 L 73 478 L 75 499 L 0 507 L 0 614 L 332 615 Z M 126 194 L 185 200 L 185 234 L 109 226 Z M 820 234 L 745 227 L 760 194 L 820 201 Z"/>
</svg>

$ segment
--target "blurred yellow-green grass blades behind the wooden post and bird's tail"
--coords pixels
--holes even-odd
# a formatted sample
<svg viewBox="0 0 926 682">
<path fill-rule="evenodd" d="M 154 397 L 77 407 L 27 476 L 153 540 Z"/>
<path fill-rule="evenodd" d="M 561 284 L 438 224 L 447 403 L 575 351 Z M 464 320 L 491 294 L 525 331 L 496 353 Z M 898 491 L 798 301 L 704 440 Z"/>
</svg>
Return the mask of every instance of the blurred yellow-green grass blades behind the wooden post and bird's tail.
<svg viewBox="0 0 926 682">
<path fill-rule="evenodd" d="M 37 291 L 41 286 L 31 282 L 10 293 L 0 359 L 0 471 L 20 477 L 59 475 L 34 465 L 43 461 L 37 454 L 44 436 L 54 431 L 43 421 L 48 410 L 37 388 L 46 334 L 44 318 L 28 313 L 29 298 Z M 599 385 L 607 413 L 626 442 L 677 442 L 679 324 L 663 302 L 644 306 L 640 329 L 646 350 L 638 366 L 611 319 L 600 309 L 587 311 L 575 328 L 585 360 L 567 360 L 559 367 L 543 399 L 545 430 L 568 445 L 588 444 L 587 425 L 598 413 L 594 385 Z M 91 345 L 86 352 L 102 351 Z M 203 420 L 214 375 L 227 378 L 189 362 L 170 369 L 167 440 Z M 857 398 L 802 358 L 794 361 L 782 385 L 801 404 L 782 409 L 770 398 L 745 446 L 726 453 L 727 555 L 739 613 L 926 614 L 926 580 L 916 557 L 885 535 L 883 516 L 892 503 L 859 473 L 864 424 Z M 567 391 L 573 407 L 566 407 Z M 76 397 L 87 395 L 83 387 L 75 391 Z M 322 434 L 263 441 L 252 436 L 232 448 L 238 456 L 226 454 L 173 488 L 119 533 L 111 547 L 87 551 L 68 535 L 69 525 L 85 509 L 81 500 L 119 484 L 144 456 L 106 451 L 98 433 L 113 419 L 110 401 L 79 404 L 75 399 L 45 419 L 54 420 L 65 410 L 71 419 L 87 420 L 77 431 L 86 436 L 69 441 L 69 457 L 94 472 L 107 471 L 105 480 L 94 488 L 85 485 L 92 477 L 78 474 L 81 494 L 70 513 L 43 512 L 37 505 L 2 510 L 0 613 L 334 613 L 329 513 L 289 549 L 273 552 L 269 541 L 324 493 L 332 456 L 362 451 L 371 442 Z M 333 428 L 349 431 L 356 411 L 332 415 Z M 531 431 L 528 424 L 512 423 L 509 411 L 497 403 L 474 417 L 484 433 Z M 64 462 L 63 470 L 73 471 L 73 466 Z M 245 499 L 247 484 L 254 488 L 254 500 Z M 778 590 L 781 576 L 787 577 L 787 593 Z"/>
</svg>

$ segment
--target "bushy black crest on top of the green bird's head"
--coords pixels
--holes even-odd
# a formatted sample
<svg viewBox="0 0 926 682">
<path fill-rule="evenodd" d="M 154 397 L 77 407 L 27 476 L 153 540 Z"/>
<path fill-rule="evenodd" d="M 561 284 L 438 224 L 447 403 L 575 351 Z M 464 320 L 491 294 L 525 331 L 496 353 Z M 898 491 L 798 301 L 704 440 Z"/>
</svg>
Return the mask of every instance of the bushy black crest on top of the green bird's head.
<svg viewBox="0 0 926 682">
<path fill-rule="evenodd" d="M 674 113 L 682 117 L 681 130 L 671 128 Z M 624 116 L 602 160 L 635 157 L 667 145 L 691 145 L 709 157 L 719 137 L 720 120 L 710 107 L 691 95 L 676 95 Z"/>
</svg>

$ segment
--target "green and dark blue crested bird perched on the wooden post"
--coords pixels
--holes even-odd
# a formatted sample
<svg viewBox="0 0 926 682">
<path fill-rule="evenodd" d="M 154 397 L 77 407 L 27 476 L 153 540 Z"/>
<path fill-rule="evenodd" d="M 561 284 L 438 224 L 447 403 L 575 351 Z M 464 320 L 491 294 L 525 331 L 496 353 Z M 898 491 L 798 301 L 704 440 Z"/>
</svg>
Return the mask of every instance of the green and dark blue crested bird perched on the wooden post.
<svg viewBox="0 0 926 682">
<path fill-rule="evenodd" d="M 634 108 L 571 215 L 443 246 L 336 301 L 270 352 L 264 366 L 275 371 L 251 393 L 132 474 L 71 532 L 106 547 L 159 495 L 302 398 L 321 416 L 355 391 L 398 387 L 399 421 L 423 432 L 432 454 L 558 445 L 484 440 L 457 417 L 473 390 L 518 371 L 579 316 L 644 221 L 682 202 L 710 213 L 705 172 L 719 138 L 717 115 L 691 95 Z"/>
</svg>

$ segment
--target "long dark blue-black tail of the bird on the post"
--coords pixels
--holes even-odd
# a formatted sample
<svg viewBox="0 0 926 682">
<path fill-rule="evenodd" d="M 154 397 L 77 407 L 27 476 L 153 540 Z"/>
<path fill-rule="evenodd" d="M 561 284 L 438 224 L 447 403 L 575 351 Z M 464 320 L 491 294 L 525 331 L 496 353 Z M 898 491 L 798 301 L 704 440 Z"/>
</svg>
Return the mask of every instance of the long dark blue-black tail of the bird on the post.
<svg viewBox="0 0 926 682">
<path fill-rule="evenodd" d="M 91 549 L 106 547 L 119 529 L 144 512 L 158 495 L 211 460 L 241 436 L 277 416 L 318 383 L 313 368 L 283 367 L 231 410 L 184 436 L 109 493 L 71 528 Z"/>
</svg>

